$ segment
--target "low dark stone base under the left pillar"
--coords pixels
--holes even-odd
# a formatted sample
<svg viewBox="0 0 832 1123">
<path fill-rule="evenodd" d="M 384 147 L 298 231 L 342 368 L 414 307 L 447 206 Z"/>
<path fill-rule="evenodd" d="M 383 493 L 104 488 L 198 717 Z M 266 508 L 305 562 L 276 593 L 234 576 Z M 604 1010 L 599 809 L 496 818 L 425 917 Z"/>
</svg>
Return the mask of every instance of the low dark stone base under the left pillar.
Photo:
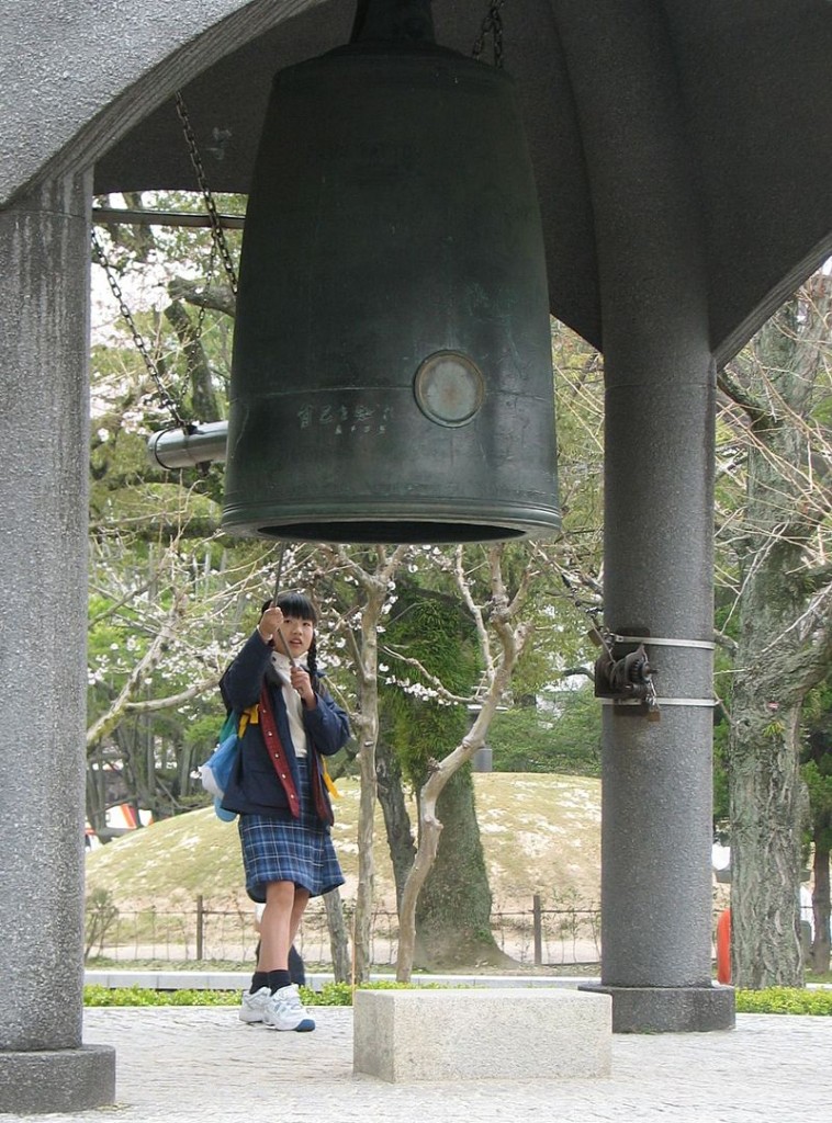
<svg viewBox="0 0 832 1123">
<path fill-rule="evenodd" d="M 0 1051 L 0 1112 L 79 1112 L 115 1099 L 116 1050 L 110 1046 Z"/>
</svg>

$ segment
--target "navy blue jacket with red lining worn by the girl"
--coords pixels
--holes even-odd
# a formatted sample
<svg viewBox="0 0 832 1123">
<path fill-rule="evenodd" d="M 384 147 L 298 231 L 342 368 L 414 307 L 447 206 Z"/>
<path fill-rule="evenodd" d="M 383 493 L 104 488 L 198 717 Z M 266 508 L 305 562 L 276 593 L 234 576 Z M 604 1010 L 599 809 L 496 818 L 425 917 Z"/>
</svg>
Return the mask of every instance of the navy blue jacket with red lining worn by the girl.
<svg viewBox="0 0 832 1123">
<path fill-rule="evenodd" d="M 223 806 L 226 811 L 236 811 L 237 814 L 287 818 L 297 814 L 292 807 L 292 792 L 297 793 L 299 789 L 300 778 L 289 731 L 283 690 L 279 682 L 272 681 L 271 675 L 266 676 L 271 656 L 271 645 L 263 641 L 259 631 L 254 631 L 223 675 L 219 688 L 226 705 L 242 713 L 248 706 L 261 702 L 263 697 L 261 692 L 265 686 L 266 704 L 273 714 L 282 748 L 282 754 L 278 757 L 279 768 L 274 767 L 272 755 L 265 746 L 262 732 L 264 722 L 250 722 L 241 740 L 241 751 L 223 798 Z M 343 748 L 350 739 L 350 722 L 346 713 L 319 682 L 316 694 L 318 704 L 315 709 L 307 710 L 304 706 L 304 727 L 308 761 L 317 773 L 313 777 L 313 783 L 317 779 L 329 811 L 328 820 L 332 822 L 332 807 L 323 784 L 318 754 L 332 756 Z"/>
</svg>

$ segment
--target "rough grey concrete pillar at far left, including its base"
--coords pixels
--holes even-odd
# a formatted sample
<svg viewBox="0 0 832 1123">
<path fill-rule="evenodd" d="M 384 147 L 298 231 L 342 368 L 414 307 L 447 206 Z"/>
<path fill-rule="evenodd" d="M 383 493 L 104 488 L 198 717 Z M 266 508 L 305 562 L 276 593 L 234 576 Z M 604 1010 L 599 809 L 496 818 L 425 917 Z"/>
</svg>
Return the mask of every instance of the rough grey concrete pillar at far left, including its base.
<svg viewBox="0 0 832 1123">
<path fill-rule="evenodd" d="M 87 175 L 0 211 L 0 1112 L 111 1103 L 81 1041 Z"/>
</svg>

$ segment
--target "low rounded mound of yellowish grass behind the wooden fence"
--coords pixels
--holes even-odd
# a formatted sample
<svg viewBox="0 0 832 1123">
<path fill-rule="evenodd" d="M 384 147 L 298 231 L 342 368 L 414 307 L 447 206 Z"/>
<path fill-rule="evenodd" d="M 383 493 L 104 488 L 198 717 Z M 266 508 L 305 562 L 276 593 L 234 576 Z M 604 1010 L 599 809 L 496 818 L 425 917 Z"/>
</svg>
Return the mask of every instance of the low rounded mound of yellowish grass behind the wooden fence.
<svg viewBox="0 0 832 1123">
<path fill-rule="evenodd" d="M 333 840 L 354 896 L 359 809 L 356 779 L 338 780 Z M 528 910 L 540 893 L 584 905 L 600 896 L 600 782 L 582 776 L 480 773 L 477 814 L 495 907 Z M 415 822 L 414 822 L 415 831 Z M 376 825 L 376 900 L 395 911 L 396 894 L 381 809 Z M 201 894 L 214 907 L 250 904 L 235 823 L 206 807 L 132 831 L 87 859 L 88 893 L 106 889 L 121 910 L 190 907 Z"/>
</svg>

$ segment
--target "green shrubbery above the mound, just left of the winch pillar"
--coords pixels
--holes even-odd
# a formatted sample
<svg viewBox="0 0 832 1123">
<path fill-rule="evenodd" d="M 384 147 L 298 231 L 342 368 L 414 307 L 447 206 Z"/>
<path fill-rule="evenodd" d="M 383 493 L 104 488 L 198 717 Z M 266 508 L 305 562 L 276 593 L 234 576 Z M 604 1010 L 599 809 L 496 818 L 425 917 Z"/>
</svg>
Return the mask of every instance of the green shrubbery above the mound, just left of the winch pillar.
<svg viewBox="0 0 832 1123">
<path fill-rule="evenodd" d="M 600 706 L 593 687 L 559 691 L 551 711 L 514 706 L 488 733 L 495 772 L 600 775 Z"/>
</svg>

